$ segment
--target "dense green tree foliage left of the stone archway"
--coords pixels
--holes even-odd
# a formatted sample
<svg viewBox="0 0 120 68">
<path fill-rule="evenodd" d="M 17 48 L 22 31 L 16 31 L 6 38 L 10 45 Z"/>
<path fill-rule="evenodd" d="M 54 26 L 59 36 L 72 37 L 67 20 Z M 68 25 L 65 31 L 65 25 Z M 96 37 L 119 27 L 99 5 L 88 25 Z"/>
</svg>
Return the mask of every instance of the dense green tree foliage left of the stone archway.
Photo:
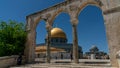
<svg viewBox="0 0 120 68">
<path fill-rule="evenodd" d="M 0 56 L 23 53 L 26 42 L 23 23 L 16 21 L 0 22 Z"/>
</svg>

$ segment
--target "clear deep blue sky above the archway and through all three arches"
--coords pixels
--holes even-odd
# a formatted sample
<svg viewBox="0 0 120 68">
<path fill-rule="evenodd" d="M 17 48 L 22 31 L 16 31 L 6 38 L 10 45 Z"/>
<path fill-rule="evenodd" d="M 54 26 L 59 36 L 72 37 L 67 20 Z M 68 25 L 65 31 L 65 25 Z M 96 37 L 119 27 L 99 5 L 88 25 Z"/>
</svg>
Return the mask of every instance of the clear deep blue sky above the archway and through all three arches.
<svg viewBox="0 0 120 68">
<path fill-rule="evenodd" d="M 64 0 L 0 0 L 0 21 L 15 20 L 26 23 L 26 16 L 53 6 Z M 88 5 L 78 16 L 78 43 L 83 52 L 95 45 L 100 51 L 108 51 L 102 10 Z M 53 27 L 61 28 L 67 35 L 68 43 L 72 43 L 72 26 L 67 13 L 59 14 Z M 44 43 L 46 37 L 45 21 L 40 21 L 36 28 L 36 44 Z"/>
</svg>

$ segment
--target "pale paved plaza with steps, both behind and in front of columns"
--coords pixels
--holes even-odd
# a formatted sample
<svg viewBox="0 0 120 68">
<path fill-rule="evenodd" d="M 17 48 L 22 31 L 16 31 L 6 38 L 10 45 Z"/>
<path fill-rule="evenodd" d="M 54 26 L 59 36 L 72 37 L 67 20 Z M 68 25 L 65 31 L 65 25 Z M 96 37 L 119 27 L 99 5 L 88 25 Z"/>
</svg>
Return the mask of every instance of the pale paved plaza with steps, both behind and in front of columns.
<svg viewBox="0 0 120 68">
<path fill-rule="evenodd" d="M 36 59 L 36 61 L 43 61 L 42 59 Z M 71 63 L 70 59 L 58 59 L 52 60 L 49 63 L 35 63 L 35 64 L 25 64 L 21 66 L 14 66 L 10 68 L 117 68 L 111 67 L 110 60 L 79 60 L 79 64 Z"/>
</svg>

